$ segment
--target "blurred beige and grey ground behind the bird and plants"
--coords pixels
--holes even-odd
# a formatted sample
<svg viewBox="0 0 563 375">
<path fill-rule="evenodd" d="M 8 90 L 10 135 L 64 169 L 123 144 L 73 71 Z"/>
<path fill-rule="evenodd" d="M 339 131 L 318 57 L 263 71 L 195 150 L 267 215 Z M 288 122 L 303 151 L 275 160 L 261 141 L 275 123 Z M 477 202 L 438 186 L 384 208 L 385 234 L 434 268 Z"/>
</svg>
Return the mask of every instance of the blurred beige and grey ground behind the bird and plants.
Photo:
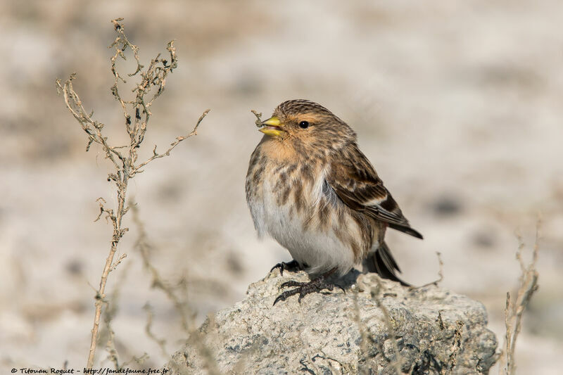
<svg viewBox="0 0 563 375">
<path fill-rule="evenodd" d="M 373 4 L 369 4 L 373 3 Z M 141 151 L 198 135 L 129 184 L 151 259 L 205 314 L 241 300 L 289 253 L 258 241 L 246 208 L 248 158 L 262 134 L 251 109 L 308 98 L 348 122 L 424 241 L 388 244 L 412 284 L 433 281 L 480 300 L 502 345 L 507 291 L 517 286 L 521 234 L 531 253 L 538 214 L 540 289 L 517 344 L 521 374 L 558 374 L 563 355 L 563 3 L 425 1 L 1 1 L 0 365 L 84 367 L 115 203 L 99 147 L 56 95 L 77 72 L 84 106 L 125 140 L 110 94 L 110 20 L 148 63 L 176 39 L 179 67 L 153 106 Z M 130 68 L 131 65 L 121 65 Z M 177 312 L 151 288 L 130 227 L 113 330 L 120 362 L 166 362 L 185 338 Z M 145 332 L 150 303 L 152 330 Z M 103 345 L 96 363 L 111 366 Z M 495 370 L 493 370 L 495 372 Z"/>
</svg>

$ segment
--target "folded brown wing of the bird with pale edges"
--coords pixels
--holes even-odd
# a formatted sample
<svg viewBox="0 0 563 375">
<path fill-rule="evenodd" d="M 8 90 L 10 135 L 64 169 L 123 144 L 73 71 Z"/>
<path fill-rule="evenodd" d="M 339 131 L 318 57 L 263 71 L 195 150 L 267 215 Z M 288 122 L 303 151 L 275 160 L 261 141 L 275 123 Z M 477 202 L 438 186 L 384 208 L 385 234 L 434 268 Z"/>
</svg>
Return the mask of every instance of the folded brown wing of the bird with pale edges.
<svg viewBox="0 0 563 375">
<path fill-rule="evenodd" d="M 331 164 L 327 182 L 341 200 L 353 210 L 365 212 L 389 227 L 422 239 L 422 234 L 412 229 L 399 205 L 377 176 L 365 155 L 353 146 Z"/>
</svg>

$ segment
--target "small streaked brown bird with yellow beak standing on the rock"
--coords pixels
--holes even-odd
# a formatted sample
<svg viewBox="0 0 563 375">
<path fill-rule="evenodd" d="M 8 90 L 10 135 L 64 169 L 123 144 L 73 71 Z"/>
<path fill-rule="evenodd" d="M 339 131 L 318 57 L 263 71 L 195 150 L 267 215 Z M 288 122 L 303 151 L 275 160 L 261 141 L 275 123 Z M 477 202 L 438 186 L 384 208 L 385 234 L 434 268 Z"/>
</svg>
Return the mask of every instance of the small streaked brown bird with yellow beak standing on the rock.
<svg viewBox="0 0 563 375">
<path fill-rule="evenodd" d="M 387 228 L 418 239 L 357 135 L 339 117 L 305 99 L 284 101 L 256 122 L 264 135 L 251 154 L 246 201 L 258 237 L 272 236 L 293 260 L 273 269 L 304 269 L 309 282 L 288 281 L 274 305 L 299 294 L 333 290 L 331 275 L 362 262 L 367 272 L 408 286 L 384 241 Z M 341 288 L 341 286 L 339 286 Z"/>
</svg>

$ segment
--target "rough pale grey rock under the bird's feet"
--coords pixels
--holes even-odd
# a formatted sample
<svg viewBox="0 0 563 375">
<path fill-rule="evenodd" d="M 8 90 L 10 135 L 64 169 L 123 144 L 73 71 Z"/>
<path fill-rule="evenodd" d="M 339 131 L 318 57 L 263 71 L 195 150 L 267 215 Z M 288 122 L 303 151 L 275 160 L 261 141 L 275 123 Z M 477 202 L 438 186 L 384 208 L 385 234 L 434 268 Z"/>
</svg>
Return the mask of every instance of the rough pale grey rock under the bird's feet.
<svg viewBox="0 0 563 375">
<path fill-rule="evenodd" d="M 495 362 L 485 307 L 464 295 L 353 271 L 339 280 L 346 293 L 272 306 L 288 280 L 309 278 L 275 270 L 210 315 L 172 357 L 171 374 L 487 374 Z"/>
</svg>

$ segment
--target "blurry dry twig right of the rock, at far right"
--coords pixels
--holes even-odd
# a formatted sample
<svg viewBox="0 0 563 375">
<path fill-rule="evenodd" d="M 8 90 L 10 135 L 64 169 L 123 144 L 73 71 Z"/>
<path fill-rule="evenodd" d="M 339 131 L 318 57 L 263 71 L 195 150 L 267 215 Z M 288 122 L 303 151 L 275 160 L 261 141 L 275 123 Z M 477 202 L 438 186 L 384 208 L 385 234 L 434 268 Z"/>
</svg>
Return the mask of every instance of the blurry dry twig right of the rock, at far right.
<svg viewBox="0 0 563 375">
<path fill-rule="evenodd" d="M 529 265 L 526 265 L 522 259 L 522 250 L 525 244 L 522 237 L 518 237 L 518 250 L 516 252 L 516 259 L 520 264 L 520 278 L 516 298 L 510 292 L 506 293 L 506 306 L 505 306 L 505 349 L 500 354 L 500 367 L 499 373 L 512 375 L 516 373 L 516 363 L 514 361 L 514 351 L 516 349 L 516 341 L 518 334 L 522 328 L 522 317 L 526 307 L 530 304 L 533 293 L 538 290 L 538 270 L 536 269 L 536 262 L 538 261 L 538 241 L 540 239 L 541 222 L 538 220 L 536 224 L 536 241 L 533 244 L 532 259 Z"/>
</svg>

